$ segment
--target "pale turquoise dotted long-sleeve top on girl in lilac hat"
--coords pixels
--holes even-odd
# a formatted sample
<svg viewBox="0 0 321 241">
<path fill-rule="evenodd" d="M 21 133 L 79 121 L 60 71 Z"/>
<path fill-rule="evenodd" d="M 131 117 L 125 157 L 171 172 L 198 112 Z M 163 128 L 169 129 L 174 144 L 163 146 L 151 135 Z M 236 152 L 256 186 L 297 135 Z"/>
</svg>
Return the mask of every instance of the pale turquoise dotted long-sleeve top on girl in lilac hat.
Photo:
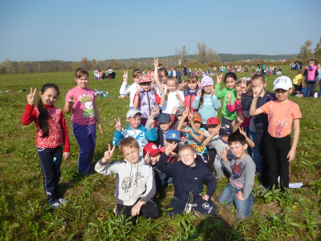
<svg viewBox="0 0 321 241">
<path fill-rule="evenodd" d="M 196 96 L 193 101 L 193 109 L 197 109 L 200 103 L 201 96 Z M 217 117 L 217 110 L 221 108 L 221 101 L 216 95 L 203 94 L 203 105 L 198 108 L 198 112 L 202 115 L 202 123 L 206 124 L 207 119 Z"/>
</svg>

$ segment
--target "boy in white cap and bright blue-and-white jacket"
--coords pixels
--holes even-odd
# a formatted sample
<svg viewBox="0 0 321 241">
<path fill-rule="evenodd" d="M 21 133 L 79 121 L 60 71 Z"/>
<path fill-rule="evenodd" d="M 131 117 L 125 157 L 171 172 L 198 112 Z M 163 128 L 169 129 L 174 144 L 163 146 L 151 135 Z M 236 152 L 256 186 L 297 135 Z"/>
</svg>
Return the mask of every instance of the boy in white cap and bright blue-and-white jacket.
<svg viewBox="0 0 321 241">
<path fill-rule="evenodd" d="M 118 121 L 116 121 L 116 131 L 113 138 L 113 145 L 118 146 L 118 143 L 121 139 L 126 137 L 134 137 L 138 142 L 141 149 L 148 143 L 148 140 L 154 141 L 157 140 L 157 132 L 156 128 L 154 128 L 154 120 L 149 118 L 149 128 L 146 129 L 143 125 L 141 125 L 141 115 L 142 112 L 139 112 L 137 109 L 131 109 L 127 112 L 126 120 L 128 122 L 126 129 L 122 131 L 122 126 L 120 123 L 120 119 L 118 117 Z M 148 140 L 147 140 L 148 139 Z M 143 151 L 141 150 L 140 156 L 143 156 Z"/>
</svg>

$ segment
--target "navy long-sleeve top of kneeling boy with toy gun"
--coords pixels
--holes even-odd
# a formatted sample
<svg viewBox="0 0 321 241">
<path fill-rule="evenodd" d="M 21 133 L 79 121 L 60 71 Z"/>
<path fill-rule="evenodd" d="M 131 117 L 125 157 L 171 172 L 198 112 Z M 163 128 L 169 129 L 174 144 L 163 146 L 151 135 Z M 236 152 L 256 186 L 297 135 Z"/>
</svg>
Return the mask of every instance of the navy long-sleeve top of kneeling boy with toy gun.
<svg viewBox="0 0 321 241">
<path fill-rule="evenodd" d="M 213 196 L 216 188 L 216 178 L 205 166 L 198 165 L 189 167 L 183 162 L 167 163 L 169 156 L 163 153 L 157 163 L 157 168 L 173 177 L 174 198 L 179 201 L 187 201 L 189 192 L 194 188 L 194 196 L 201 195 L 203 182 L 207 183 L 206 194 Z"/>
</svg>

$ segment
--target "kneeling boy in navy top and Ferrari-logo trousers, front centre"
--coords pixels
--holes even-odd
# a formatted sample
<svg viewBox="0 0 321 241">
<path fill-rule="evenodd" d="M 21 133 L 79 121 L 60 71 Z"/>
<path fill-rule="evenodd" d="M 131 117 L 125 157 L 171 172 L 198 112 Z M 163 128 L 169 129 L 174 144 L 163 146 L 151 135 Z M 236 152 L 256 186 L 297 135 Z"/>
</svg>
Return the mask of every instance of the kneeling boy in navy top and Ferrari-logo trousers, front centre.
<svg viewBox="0 0 321 241">
<path fill-rule="evenodd" d="M 179 148 L 178 155 L 180 162 L 167 163 L 170 153 L 177 147 L 177 143 L 167 146 L 165 153 L 160 156 L 157 168 L 167 174 L 171 174 L 174 183 L 174 198 L 170 201 L 167 208 L 174 210 L 167 211 L 167 214 L 174 216 L 184 211 L 188 201 L 189 193 L 194 190 L 193 204 L 194 208 L 207 215 L 216 215 L 216 207 L 211 197 L 216 188 L 216 178 L 206 169 L 206 167 L 198 165 L 195 162 L 197 154 L 191 145 L 183 145 Z M 205 195 L 201 195 L 203 182 L 207 182 L 207 191 Z"/>
</svg>

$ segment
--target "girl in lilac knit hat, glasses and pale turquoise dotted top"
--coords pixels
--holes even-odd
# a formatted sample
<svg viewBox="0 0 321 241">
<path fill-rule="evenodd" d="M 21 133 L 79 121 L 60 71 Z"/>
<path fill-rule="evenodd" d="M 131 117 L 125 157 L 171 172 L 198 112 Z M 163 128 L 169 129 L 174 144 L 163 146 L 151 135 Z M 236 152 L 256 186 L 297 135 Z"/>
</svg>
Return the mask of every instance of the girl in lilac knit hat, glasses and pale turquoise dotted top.
<svg viewBox="0 0 321 241">
<path fill-rule="evenodd" d="M 202 115 L 201 127 L 204 129 L 207 129 L 207 119 L 217 117 L 217 110 L 221 108 L 221 101 L 217 99 L 213 85 L 214 82 L 210 76 L 203 77 L 201 88 L 197 91 L 197 96 L 193 101 L 193 108 L 198 109 Z"/>
</svg>

